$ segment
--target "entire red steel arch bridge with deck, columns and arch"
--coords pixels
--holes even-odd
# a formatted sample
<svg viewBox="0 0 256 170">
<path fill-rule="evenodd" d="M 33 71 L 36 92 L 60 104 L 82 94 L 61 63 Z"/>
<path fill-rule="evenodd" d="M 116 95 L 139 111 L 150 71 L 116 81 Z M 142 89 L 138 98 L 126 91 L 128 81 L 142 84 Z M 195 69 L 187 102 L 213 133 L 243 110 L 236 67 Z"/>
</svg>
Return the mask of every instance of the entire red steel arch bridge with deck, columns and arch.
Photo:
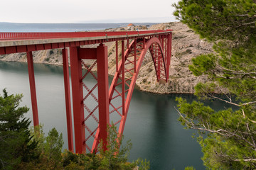
<svg viewBox="0 0 256 170">
<path fill-rule="evenodd" d="M 105 42 L 115 42 L 116 70 L 112 84 L 108 80 L 108 52 Z M 82 45 L 99 44 L 96 48 Z M 149 50 L 157 81 L 168 81 L 171 62 L 171 30 L 80 33 L 0 33 L 0 55 L 26 52 L 31 89 L 33 125 L 39 123 L 33 55 L 36 50 L 62 48 L 65 84 L 65 105 L 68 127 L 68 149 L 93 152 L 100 140 L 106 143 L 107 125 L 113 122 L 122 135 L 139 69 Z M 73 123 L 70 102 L 68 48 L 73 97 Z M 118 50 L 118 48 L 120 48 Z M 94 61 L 87 64 L 87 60 Z M 97 67 L 97 74 L 92 69 Z M 86 71 L 82 71 L 85 68 Z M 95 86 L 87 86 L 91 75 Z M 95 105 L 88 104 L 95 101 Z"/>
</svg>

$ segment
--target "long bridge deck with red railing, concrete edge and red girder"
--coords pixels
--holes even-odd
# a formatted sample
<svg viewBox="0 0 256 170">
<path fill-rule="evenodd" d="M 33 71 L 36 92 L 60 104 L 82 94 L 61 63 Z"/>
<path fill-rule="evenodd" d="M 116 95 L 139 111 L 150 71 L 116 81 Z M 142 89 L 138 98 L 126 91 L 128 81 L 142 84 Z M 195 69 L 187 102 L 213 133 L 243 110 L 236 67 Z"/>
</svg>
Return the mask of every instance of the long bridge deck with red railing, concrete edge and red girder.
<svg viewBox="0 0 256 170">
<path fill-rule="evenodd" d="M 171 33 L 171 30 L 78 33 L 0 33 L 0 55 L 74 47 L 115 40 L 144 38 Z"/>
</svg>

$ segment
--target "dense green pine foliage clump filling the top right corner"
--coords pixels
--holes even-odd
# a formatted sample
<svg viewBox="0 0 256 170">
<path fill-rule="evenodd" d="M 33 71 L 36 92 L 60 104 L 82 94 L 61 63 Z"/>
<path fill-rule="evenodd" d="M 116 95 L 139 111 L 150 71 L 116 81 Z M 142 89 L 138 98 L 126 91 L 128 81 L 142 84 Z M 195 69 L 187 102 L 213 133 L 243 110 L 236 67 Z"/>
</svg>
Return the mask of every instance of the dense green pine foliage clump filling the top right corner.
<svg viewBox="0 0 256 170">
<path fill-rule="evenodd" d="M 255 3 L 252 0 L 182 0 L 174 15 L 208 40 L 240 42 L 255 34 Z"/>
</svg>

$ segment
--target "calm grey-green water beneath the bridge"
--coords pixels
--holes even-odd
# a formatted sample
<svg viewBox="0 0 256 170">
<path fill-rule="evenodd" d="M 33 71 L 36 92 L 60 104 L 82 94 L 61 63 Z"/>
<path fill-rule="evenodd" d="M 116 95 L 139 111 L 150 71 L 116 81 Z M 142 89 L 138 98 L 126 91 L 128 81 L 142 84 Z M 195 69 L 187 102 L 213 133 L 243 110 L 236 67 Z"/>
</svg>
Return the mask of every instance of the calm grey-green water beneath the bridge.
<svg viewBox="0 0 256 170">
<path fill-rule="evenodd" d="M 39 121 L 44 132 L 56 128 L 63 133 L 64 147 L 68 148 L 65 120 L 65 96 L 62 67 L 34 64 Z M 92 79 L 85 83 L 90 84 Z M 23 94 L 21 105 L 31 108 L 27 64 L 0 62 L 0 89 L 9 94 Z M 194 166 L 205 169 L 201 147 L 191 135 L 193 130 L 184 130 L 178 122 L 175 98 L 182 96 L 188 101 L 193 95 L 156 95 L 134 90 L 129 107 L 124 140 L 132 140 L 129 160 L 138 157 L 148 159 L 151 169 L 184 169 Z M 207 103 L 215 109 L 227 106 L 220 102 Z M 26 115 L 32 118 L 31 111 Z M 31 119 L 32 120 L 32 119 Z"/>
</svg>

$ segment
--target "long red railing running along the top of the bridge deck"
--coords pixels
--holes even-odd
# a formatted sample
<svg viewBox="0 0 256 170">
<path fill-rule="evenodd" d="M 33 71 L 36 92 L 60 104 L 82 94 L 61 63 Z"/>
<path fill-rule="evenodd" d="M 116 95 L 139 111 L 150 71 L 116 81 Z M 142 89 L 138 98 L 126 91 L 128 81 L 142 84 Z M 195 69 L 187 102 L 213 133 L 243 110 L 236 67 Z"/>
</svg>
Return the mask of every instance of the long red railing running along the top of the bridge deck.
<svg viewBox="0 0 256 170">
<path fill-rule="evenodd" d="M 83 38 L 103 37 L 114 35 L 139 35 L 164 33 L 166 30 L 137 30 L 119 32 L 69 32 L 69 33 L 0 33 L 0 40 L 29 40 L 29 39 L 53 39 L 53 38 Z"/>
</svg>

